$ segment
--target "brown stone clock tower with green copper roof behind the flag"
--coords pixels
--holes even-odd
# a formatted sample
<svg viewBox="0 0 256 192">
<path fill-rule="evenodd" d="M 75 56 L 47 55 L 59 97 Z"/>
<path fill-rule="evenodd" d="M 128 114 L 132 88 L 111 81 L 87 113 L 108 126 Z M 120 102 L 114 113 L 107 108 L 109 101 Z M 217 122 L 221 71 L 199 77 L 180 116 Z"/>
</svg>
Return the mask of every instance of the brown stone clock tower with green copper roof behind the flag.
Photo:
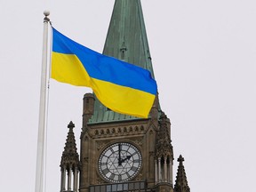
<svg viewBox="0 0 256 192">
<path fill-rule="evenodd" d="M 140 0 L 116 0 L 103 54 L 147 68 L 154 77 Z M 148 118 L 139 118 L 116 113 L 93 93 L 84 94 L 80 140 L 79 166 L 76 163 L 80 192 L 190 191 L 183 164 L 174 188 L 171 123 L 158 95 Z M 66 191 L 61 188 L 60 192 Z"/>
</svg>

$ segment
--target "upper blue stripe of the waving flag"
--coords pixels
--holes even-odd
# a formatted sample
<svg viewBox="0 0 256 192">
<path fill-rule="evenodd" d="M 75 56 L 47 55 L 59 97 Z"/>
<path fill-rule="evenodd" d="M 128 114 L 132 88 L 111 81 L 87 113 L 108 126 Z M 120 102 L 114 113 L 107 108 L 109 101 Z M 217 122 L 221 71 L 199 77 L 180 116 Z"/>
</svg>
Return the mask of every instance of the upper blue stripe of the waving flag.
<svg viewBox="0 0 256 192">
<path fill-rule="evenodd" d="M 62 35 L 55 28 L 52 30 L 52 52 L 76 54 L 92 78 L 156 94 L 156 81 L 147 69 L 94 52 Z"/>
</svg>

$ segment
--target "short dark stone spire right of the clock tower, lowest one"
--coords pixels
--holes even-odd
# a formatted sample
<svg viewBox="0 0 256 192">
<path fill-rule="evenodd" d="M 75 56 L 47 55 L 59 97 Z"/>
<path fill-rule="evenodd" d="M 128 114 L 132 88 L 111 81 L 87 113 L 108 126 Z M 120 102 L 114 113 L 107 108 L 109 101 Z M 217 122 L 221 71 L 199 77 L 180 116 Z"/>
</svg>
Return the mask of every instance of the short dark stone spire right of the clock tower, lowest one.
<svg viewBox="0 0 256 192">
<path fill-rule="evenodd" d="M 178 172 L 177 172 L 175 186 L 174 186 L 175 192 L 190 192 L 183 161 L 184 161 L 184 158 L 180 155 L 178 158 L 178 162 L 180 164 L 178 166 Z"/>
</svg>

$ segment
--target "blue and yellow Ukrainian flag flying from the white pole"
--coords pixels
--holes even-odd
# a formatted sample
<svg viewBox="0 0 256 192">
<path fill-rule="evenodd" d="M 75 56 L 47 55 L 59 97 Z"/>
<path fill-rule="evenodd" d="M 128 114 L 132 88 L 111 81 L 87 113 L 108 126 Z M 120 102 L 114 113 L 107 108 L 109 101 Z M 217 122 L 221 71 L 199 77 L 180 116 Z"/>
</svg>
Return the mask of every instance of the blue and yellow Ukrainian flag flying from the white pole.
<svg viewBox="0 0 256 192">
<path fill-rule="evenodd" d="M 52 78 L 91 87 L 100 102 L 118 113 L 148 117 L 156 97 L 150 72 L 77 44 L 52 28 Z"/>
</svg>

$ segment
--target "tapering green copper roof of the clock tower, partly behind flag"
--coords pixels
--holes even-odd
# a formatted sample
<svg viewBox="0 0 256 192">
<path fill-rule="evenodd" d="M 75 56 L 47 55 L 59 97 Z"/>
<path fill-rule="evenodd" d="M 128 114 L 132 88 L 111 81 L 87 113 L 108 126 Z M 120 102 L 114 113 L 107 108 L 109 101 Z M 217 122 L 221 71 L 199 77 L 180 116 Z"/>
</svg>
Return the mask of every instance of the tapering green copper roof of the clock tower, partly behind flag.
<svg viewBox="0 0 256 192">
<path fill-rule="evenodd" d="M 116 0 L 103 54 L 147 68 L 154 77 L 140 0 Z M 113 112 L 96 99 L 89 123 L 135 118 Z"/>
</svg>

